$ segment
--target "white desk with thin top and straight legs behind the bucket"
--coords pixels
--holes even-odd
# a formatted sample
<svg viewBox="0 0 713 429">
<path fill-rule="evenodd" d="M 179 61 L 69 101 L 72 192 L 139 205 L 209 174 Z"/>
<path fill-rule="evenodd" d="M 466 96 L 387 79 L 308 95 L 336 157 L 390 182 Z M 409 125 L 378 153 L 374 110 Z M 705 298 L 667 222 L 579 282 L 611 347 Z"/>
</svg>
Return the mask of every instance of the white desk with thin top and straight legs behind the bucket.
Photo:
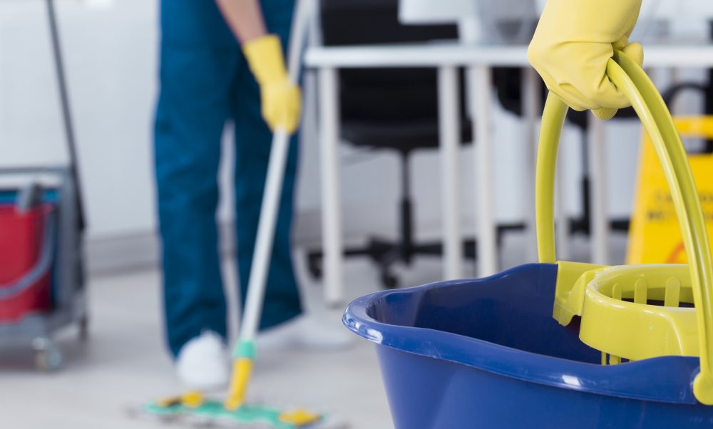
<svg viewBox="0 0 713 429">
<path fill-rule="evenodd" d="M 456 70 L 466 68 L 468 76 L 469 111 L 473 113 L 476 130 L 473 153 L 476 168 L 476 232 L 478 234 L 478 276 L 493 274 L 498 269 L 496 257 L 496 222 L 493 205 L 491 140 L 492 86 L 491 68 L 525 67 L 525 118 L 528 130 L 528 157 L 534 169 L 535 118 L 540 114 L 537 100 L 538 79 L 528 68 L 526 46 L 464 45 L 459 43 L 427 43 L 419 45 L 378 46 L 313 46 L 307 49 L 304 65 L 317 68 L 319 88 L 319 139 L 322 170 L 322 244 L 324 249 L 324 285 L 328 303 L 344 299 L 342 279 L 342 221 L 339 214 L 339 103 L 337 70 L 339 68 L 432 67 L 438 70 L 439 138 L 441 146 L 441 179 L 443 186 L 443 258 L 444 279 L 455 279 L 462 273 L 461 229 L 458 224 L 460 205 L 458 182 L 458 82 Z M 648 45 L 645 46 L 647 67 L 713 68 L 713 46 L 710 45 Z M 477 124 L 476 124 L 477 122 Z M 483 125 L 486 124 L 486 125 Z M 605 205 L 604 145 L 602 122 L 591 127 L 589 145 L 592 173 L 593 259 L 607 262 L 608 225 Z M 531 131 L 531 132 L 530 132 Z M 528 176 L 534 177 L 533 171 Z M 527 186 L 531 186 L 528 183 Z M 560 205 L 561 206 L 561 205 Z M 562 213 L 560 212 L 560 215 Z M 530 210 L 528 224 L 533 224 Z M 530 228 L 533 230 L 533 228 Z"/>
</svg>

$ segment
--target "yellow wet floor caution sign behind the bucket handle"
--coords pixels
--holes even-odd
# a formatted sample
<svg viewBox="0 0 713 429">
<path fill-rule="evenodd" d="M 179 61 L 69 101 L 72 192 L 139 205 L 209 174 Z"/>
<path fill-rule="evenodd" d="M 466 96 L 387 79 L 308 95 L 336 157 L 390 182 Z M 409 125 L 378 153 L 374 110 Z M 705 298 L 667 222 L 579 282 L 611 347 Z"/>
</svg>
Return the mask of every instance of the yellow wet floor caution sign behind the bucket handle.
<svg viewBox="0 0 713 429">
<path fill-rule="evenodd" d="M 713 116 L 674 120 L 682 138 L 713 140 Z M 708 236 L 713 237 L 713 154 L 689 155 Z M 649 137 L 645 134 L 627 247 L 627 264 L 685 264 L 686 253 L 671 192 Z"/>
</svg>

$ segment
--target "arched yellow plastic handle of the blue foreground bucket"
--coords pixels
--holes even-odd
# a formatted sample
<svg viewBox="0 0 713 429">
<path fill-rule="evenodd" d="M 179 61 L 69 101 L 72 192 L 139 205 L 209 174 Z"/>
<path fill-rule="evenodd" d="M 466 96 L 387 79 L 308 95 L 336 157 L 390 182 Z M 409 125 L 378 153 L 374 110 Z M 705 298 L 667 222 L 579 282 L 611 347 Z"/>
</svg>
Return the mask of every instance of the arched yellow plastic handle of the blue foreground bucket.
<svg viewBox="0 0 713 429">
<path fill-rule="evenodd" d="M 649 134 L 663 167 L 679 219 L 696 306 L 700 372 L 693 382 L 697 400 L 713 405 L 713 266 L 706 224 L 686 151 L 661 95 L 645 71 L 620 51 L 607 63 L 607 76 L 626 95 Z M 555 262 L 553 215 L 555 168 L 560 133 L 568 107 L 548 95 L 540 129 L 535 176 L 535 212 L 538 256 Z"/>
</svg>

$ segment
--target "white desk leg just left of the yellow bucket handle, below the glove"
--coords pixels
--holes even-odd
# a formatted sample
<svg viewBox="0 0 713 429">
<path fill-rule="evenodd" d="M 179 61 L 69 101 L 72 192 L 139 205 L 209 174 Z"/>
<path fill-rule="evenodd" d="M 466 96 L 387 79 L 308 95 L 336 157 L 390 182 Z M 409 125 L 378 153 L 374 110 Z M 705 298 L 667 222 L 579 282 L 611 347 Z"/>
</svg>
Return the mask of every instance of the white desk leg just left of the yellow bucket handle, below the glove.
<svg viewBox="0 0 713 429">
<path fill-rule="evenodd" d="M 523 113 L 525 116 L 525 169 L 523 174 L 523 204 L 527 228 L 528 261 L 537 260 L 537 234 L 535 232 L 535 163 L 537 160 L 537 120 L 542 114 L 540 78 L 533 68 L 523 69 Z"/>
</svg>

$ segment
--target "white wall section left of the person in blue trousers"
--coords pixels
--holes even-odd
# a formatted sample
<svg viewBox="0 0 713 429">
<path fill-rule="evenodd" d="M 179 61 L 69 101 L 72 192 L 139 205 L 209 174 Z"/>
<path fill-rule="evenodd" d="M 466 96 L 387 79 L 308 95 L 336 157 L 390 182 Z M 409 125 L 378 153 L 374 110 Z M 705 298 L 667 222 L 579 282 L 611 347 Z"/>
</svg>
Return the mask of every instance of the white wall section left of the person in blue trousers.
<svg viewBox="0 0 713 429">
<path fill-rule="evenodd" d="M 155 2 L 58 1 L 90 237 L 153 228 Z M 2 164 L 66 162 L 44 2 L 0 3 Z"/>
</svg>

